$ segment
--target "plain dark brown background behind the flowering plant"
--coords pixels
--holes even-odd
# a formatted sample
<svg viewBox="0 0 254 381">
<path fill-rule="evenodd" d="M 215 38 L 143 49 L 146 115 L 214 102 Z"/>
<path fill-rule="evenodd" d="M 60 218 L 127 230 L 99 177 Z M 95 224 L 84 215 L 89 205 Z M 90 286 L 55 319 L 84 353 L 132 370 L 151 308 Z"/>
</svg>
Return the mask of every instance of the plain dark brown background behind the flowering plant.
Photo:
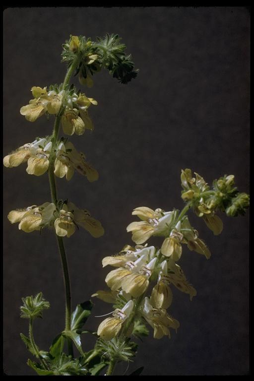
<svg viewBox="0 0 254 381">
<path fill-rule="evenodd" d="M 4 20 L 4 155 L 51 133 L 53 118 L 29 123 L 19 114 L 32 86 L 63 81 L 61 45 L 69 34 L 95 39 L 119 33 L 139 74 L 122 85 L 107 72 L 84 89 L 98 100 L 91 108 L 95 130 L 73 136 L 77 148 L 99 171 L 89 184 L 75 174 L 58 179 L 60 197 L 69 197 L 100 219 L 105 235 L 93 239 L 79 230 L 65 239 L 73 305 L 104 288 L 101 259 L 131 243 L 126 226 L 134 207 L 182 208 L 181 168 L 207 182 L 234 174 L 240 191 L 249 179 L 250 15 L 244 7 L 8 8 Z M 76 83 L 76 82 L 75 82 Z M 76 83 L 77 84 L 77 83 Z M 78 85 L 78 84 L 77 84 Z M 24 234 L 11 225 L 9 210 L 50 199 L 47 175 L 28 176 L 25 166 L 4 168 L 4 369 L 7 375 L 32 375 L 19 338 L 27 321 L 19 318 L 21 297 L 43 291 L 51 303 L 35 323 L 42 349 L 64 328 L 61 264 L 53 234 Z M 144 375 L 246 375 L 248 348 L 248 219 L 222 219 L 214 237 L 190 215 L 212 256 L 184 251 L 180 264 L 197 296 L 174 290 L 170 313 L 181 322 L 172 339 L 140 343 L 127 374 L 144 365 Z M 158 243 L 160 240 L 151 240 Z M 94 315 L 111 307 L 96 301 Z M 90 318 L 96 329 L 102 318 Z M 91 348 L 84 338 L 84 349 Z M 125 370 L 126 364 L 122 367 Z M 121 365 L 117 373 L 122 372 Z"/>
</svg>

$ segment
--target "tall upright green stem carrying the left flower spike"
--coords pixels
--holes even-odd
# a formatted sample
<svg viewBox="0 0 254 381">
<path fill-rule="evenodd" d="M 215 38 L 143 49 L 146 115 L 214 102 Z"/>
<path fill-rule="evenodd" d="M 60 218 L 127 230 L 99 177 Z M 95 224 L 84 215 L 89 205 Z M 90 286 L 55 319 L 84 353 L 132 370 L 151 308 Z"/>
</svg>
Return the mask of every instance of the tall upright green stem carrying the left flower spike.
<svg viewBox="0 0 254 381">
<path fill-rule="evenodd" d="M 66 88 L 66 86 L 69 83 L 70 77 L 74 70 L 76 69 L 77 65 L 79 64 L 80 56 L 77 55 L 76 58 L 73 60 L 72 64 L 69 66 L 66 75 L 64 77 L 64 83 L 63 83 L 63 89 Z M 63 108 L 61 107 L 61 110 L 59 114 L 56 117 L 54 129 L 52 133 L 53 137 L 53 149 L 52 149 L 52 155 L 50 157 L 50 165 L 49 165 L 49 183 L 50 183 L 50 191 L 51 191 L 51 199 L 52 202 L 56 205 L 58 208 L 58 195 L 57 195 L 57 187 L 56 187 L 56 180 L 55 180 L 55 174 L 54 174 L 54 148 L 56 148 L 57 139 L 58 139 L 58 133 L 59 133 L 59 127 L 61 123 L 61 116 L 62 116 Z M 64 286 L 65 286 L 65 330 L 70 330 L 70 318 L 71 318 L 71 293 L 70 293 L 70 280 L 69 280 L 69 272 L 68 272 L 68 264 L 67 264 L 67 258 L 64 250 L 64 242 L 63 238 L 57 236 L 57 242 L 58 242 L 58 249 L 61 255 L 62 260 L 62 266 L 63 266 L 63 273 L 64 273 Z M 72 347 L 72 341 L 71 339 L 67 340 L 68 342 L 68 353 L 73 356 L 73 347 Z"/>
</svg>

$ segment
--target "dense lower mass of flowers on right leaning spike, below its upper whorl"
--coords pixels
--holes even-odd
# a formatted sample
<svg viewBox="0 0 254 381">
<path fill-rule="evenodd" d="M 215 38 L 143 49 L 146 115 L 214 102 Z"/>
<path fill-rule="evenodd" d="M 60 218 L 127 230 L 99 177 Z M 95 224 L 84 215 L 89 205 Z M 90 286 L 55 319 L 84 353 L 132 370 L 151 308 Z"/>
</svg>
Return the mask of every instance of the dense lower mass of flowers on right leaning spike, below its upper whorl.
<svg viewBox="0 0 254 381">
<path fill-rule="evenodd" d="M 125 321 L 132 314 L 135 319 L 143 318 L 152 326 L 154 338 L 159 339 L 164 335 L 170 337 L 169 328 L 177 329 L 180 324 L 166 311 L 173 298 L 169 285 L 190 294 L 191 298 L 196 295 L 181 267 L 173 259 L 163 256 L 154 246 L 141 245 L 135 248 L 126 246 L 119 255 L 107 256 L 102 263 L 103 267 L 117 267 L 105 279 L 111 291 L 99 290 L 93 296 L 109 303 L 117 304 L 121 300 L 126 304 L 114 311 L 113 318 L 102 321 L 98 327 L 98 335 L 104 340 L 112 339 L 119 334 L 122 327 L 125 329 Z M 145 297 L 149 284 L 154 281 L 150 298 Z M 126 334 L 128 331 L 132 332 L 133 324 Z"/>
</svg>

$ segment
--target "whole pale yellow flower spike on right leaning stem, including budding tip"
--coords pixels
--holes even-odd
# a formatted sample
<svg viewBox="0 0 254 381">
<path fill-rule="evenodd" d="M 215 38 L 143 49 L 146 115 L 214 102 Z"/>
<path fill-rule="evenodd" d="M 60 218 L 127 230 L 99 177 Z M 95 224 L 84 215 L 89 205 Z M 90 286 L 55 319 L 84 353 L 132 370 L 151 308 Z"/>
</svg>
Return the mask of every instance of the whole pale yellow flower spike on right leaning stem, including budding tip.
<svg viewBox="0 0 254 381">
<path fill-rule="evenodd" d="M 132 215 L 140 221 L 131 222 L 127 232 L 132 233 L 132 241 L 137 246 L 133 248 L 127 245 L 118 255 L 106 256 L 102 260 L 103 267 L 116 267 L 105 279 L 110 291 L 99 290 L 93 295 L 114 303 L 116 308 L 113 317 L 106 318 L 99 325 L 97 333 L 104 340 L 135 334 L 134 327 L 140 324 L 140 319 L 153 328 L 154 338 L 159 339 L 164 335 L 170 337 L 170 328 L 177 330 L 180 325 L 167 313 L 173 300 L 172 287 L 189 294 L 191 300 L 196 295 L 195 288 L 176 263 L 182 256 L 183 245 L 186 244 L 189 250 L 207 259 L 211 255 L 204 241 L 198 237 L 198 232 L 191 226 L 187 211 L 192 207 L 216 235 L 223 228 L 216 211 L 236 215 L 249 205 L 249 196 L 246 193 L 238 194 L 237 189 L 233 188 L 234 176 L 224 176 L 214 181 L 213 189 L 198 174 L 195 173 L 195 178 L 192 178 L 189 169 L 182 171 L 181 180 L 184 188 L 182 197 L 187 201 L 184 209 L 180 212 L 177 209 L 153 210 L 146 206 L 135 208 Z M 152 236 L 163 237 L 161 248 L 141 245 Z"/>
</svg>

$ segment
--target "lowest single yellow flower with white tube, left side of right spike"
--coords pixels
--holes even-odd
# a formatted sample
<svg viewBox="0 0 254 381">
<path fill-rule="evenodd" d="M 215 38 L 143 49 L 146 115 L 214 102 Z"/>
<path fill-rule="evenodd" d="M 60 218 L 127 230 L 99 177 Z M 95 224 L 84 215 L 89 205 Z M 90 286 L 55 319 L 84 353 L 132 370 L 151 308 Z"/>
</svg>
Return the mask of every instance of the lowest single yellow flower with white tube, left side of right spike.
<svg viewBox="0 0 254 381">
<path fill-rule="evenodd" d="M 134 307 L 132 300 L 128 301 L 122 310 L 116 309 L 113 318 L 103 320 L 97 330 L 97 334 L 104 340 L 111 340 L 117 336 L 122 328 L 122 324 L 129 317 Z"/>
</svg>

